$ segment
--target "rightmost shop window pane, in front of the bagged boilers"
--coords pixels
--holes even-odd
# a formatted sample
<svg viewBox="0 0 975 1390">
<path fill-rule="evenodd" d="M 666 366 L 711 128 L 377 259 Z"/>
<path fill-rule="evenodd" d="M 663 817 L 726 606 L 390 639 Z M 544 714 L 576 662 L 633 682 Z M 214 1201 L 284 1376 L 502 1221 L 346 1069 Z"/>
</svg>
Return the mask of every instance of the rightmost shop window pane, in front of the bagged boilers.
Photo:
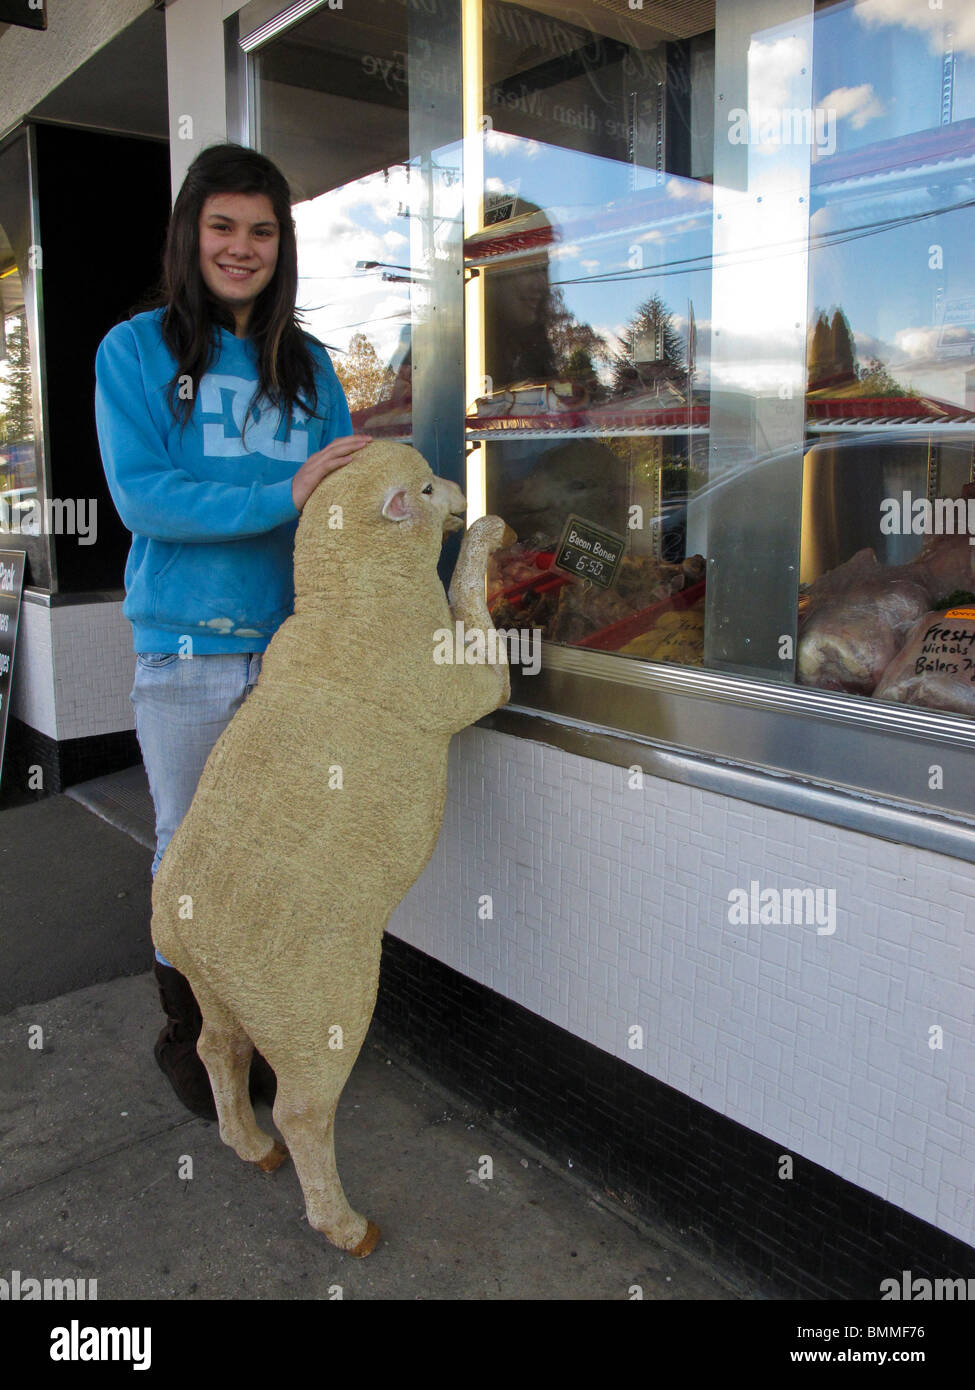
<svg viewBox="0 0 975 1390">
<path fill-rule="evenodd" d="M 969 7 L 816 21 L 797 677 L 975 714 Z"/>
</svg>

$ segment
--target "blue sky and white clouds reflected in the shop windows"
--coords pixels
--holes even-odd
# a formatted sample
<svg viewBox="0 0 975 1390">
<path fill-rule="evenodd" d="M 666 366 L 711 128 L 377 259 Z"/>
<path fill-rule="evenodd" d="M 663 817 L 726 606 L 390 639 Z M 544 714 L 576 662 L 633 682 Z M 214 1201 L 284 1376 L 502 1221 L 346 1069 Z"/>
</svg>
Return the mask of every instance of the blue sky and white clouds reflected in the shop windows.
<svg viewBox="0 0 975 1390">
<path fill-rule="evenodd" d="M 910 157 L 917 136 L 937 131 L 949 42 L 954 49 L 953 120 L 972 120 L 975 0 L 944 0 L 942 8 L 926 0 L 850 0 L 819 11 L 811 88 L 805 78 L 805 90 L 814 107 L 828 113 L 836 153 L 897 139 Z M 755 35 L 748 60 L 750 113 L 793 104 L 801 90 L 798 74 L 808 63 L 808 31 L 776 28 Z M 780 153 L 775 147 L 750 149 L 748 156 L 773 161 Z M 811 157 L 816 161 L 822 153 L 814 149 Z M 483 156 L 490 192 L 516 190 L 523 202 L 544 208 L 556 227 L 549 279 L 579 321 L 591 324 L 616 348 L 627 320 L 651 293 L 662 296 L 680 332 L 686 332 L 693 306 L 698 373 L 707 375 L 712 245 L 707 183 L 668 177 L 655 189 L 652 171 L 634 171 L 618 160 L 502 129 L 485 136 Z M 814 192 L 809 313 L 841 306 L 864 356 L 908 368 L 912 361 L 929 361 L 937 352 L 946 309 L 957 318 L 962 314 L 958 306 L 975 295 L 975 208 L 939 214 L 939 208 L 975 199 L 974 172 L 975 165 L 957 165 L 937 175 Z M 652 204 L 655 197 L 665 214 L 659 222 L 647 215 L 643 222 L 598 234 L 599 217 L 608 210 Z M 384 282 L 381 268 L 357 271 L 356 261 L 406 264 L 410 224 L 405 213 L 416 203 L 416 172 L 399 165 L 295 208 L 306 322 L 338 353 L 348 349 L 355 332 L 366 332 L 381 357 L 394 354 L 401 329 L 409 324 L 410 286 Z M 897 225 L 880 231 L 889 221 Z M 586 222 L 590 232 L 597 227 L 595 235 L 577 232 Z M 940 247 L 937 267 L 929 264 L 932 246 Z M 766 293 L 775 293 L 780 270 L 769 261 Z M 733 329 L 743 363 L 755 364 L 757 385 L 764 361 L 759 295 L 761 288 L 748 289 L 741 322 Z M 766 364 L 780 360 L 780 348 L 766 342 Z"/>
</svg>

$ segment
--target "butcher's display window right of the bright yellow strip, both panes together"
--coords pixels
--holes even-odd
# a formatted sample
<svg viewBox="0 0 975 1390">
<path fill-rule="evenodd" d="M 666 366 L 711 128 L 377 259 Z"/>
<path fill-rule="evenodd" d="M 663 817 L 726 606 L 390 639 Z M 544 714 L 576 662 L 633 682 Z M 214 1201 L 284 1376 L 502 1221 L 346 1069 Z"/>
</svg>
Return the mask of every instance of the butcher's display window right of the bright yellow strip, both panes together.
<svg viewBox="0 0 975 1390">
<path fill-rule="evenodd" d="M 972 714 L 964 6 L 622 8 L 481 8 L 467 431 L 519 534 L 495 623 Z"/>
</svg>

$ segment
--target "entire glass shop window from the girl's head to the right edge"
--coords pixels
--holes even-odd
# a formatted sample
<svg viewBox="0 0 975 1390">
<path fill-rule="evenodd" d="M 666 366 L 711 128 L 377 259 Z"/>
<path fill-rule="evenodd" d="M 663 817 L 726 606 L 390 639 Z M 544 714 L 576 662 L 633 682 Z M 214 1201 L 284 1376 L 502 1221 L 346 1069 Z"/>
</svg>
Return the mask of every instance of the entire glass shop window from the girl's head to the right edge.
<svg viewBox="0 0 975 1390">
<path fill-rule="evenodd" d="M 515 703 L 851 785 L 855 730 L 935 737 L 894 705 L 975 716 L 969 10 L 357 0 L 259 49 L 356 424 L 517 534 Z"/>
</svg>

